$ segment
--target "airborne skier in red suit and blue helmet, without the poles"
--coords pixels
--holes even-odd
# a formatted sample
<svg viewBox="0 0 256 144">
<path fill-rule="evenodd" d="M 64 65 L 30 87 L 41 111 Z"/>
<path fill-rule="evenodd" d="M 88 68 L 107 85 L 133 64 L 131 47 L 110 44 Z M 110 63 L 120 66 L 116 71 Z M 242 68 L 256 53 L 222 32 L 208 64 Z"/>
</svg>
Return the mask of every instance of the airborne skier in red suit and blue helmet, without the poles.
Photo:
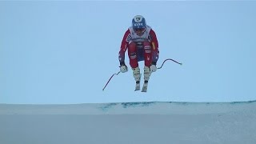
<svg viewBox="0 0 256 144">
<path fill-rule="evenodd" d="M 146 92 L 150 74 L 157 70 L 158 62 L 158 39 L 154 30 L 146 25 L 146 19 L 142 15 L 136 15 L 132 20 L 132 26 L 126 30 L 122 38 L 119 50 L 120 71 L 125 73 L 128 68 L 125 63 L 125 53 L 128 49 L 130 67 L 136 81 L 135 90 L 140 90 L 141 73 L 138 62 L 144 61 L 144 85 L 142 92 Z"/>
</svg>

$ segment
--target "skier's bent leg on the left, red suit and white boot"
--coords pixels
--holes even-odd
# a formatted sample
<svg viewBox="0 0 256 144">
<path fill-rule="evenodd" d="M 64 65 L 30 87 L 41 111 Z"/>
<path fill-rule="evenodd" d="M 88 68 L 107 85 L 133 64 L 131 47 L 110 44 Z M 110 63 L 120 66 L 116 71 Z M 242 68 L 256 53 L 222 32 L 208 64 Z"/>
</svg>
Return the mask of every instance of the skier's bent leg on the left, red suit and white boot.
<svg viewBox="0 0 256 144">
<path fill-rule="evenodd" d="M 136 50 L 136 43 L 135 42 L 131 42 L 128 45 L 128 55 L 129 55 L 129 59 L 130 59 L 130 67 L 133 70 L 133 75 L 134 75 L 134 79 L 136 82 L 140 81 L 141 78 L 141 74 L 140 74 L 140 70 L 138 67 L 138 59 L 137 59 L 137 50 Z"/>
</svg>

